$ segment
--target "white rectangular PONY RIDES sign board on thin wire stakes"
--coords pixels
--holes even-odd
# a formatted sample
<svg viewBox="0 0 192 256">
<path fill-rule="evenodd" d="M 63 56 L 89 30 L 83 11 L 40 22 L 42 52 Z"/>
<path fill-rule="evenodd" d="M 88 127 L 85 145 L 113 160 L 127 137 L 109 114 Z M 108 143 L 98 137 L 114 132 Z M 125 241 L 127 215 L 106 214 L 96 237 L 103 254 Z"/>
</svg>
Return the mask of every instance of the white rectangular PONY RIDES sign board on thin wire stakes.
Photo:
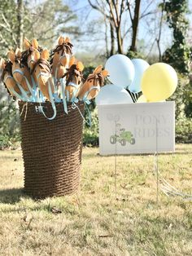
<svg viewBox="0 0 192 256">
<path fill-rule="evenodd" d="M 98 121 L 101 155 L 175 151 L 172 101 L 100 105 Z"/>
</svg>

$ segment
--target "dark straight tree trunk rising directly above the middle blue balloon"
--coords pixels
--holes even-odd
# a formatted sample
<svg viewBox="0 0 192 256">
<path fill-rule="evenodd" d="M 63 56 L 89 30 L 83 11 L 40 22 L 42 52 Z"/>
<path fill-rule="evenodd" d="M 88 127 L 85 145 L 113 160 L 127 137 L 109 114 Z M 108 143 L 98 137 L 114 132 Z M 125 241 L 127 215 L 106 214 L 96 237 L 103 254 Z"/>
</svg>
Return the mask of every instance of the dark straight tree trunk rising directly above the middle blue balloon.
<svg viewBox="0 0 192 256">
<path fill-rule="evenodd" d="M 140 3 L 141 3 L 141 0 L 135 0 L 135 8 L 134 8 L 134 16 L 133 16 L 133 24 L 132 24 L 133 34 L 132 34 L 130 51 L 137 51 L 136 41 L 137 41 L 137 29 L 138 29 Z"/>
</svg>

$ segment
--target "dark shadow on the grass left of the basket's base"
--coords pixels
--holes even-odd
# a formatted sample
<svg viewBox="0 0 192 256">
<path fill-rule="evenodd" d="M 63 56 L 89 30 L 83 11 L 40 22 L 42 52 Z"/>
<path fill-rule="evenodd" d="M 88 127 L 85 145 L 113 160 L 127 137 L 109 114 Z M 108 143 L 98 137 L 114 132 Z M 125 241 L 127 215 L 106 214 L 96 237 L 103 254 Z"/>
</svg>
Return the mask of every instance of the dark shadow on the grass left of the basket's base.
<svg viewBox="0 0 192 256">
<path fill-rule="evenodd" d="M 26 194 L 24 194 L 24 188 L 0 190 L 0 203 L 15 204 L 20 201 L 20 197 L 26 197 Z"/>
</svg>

